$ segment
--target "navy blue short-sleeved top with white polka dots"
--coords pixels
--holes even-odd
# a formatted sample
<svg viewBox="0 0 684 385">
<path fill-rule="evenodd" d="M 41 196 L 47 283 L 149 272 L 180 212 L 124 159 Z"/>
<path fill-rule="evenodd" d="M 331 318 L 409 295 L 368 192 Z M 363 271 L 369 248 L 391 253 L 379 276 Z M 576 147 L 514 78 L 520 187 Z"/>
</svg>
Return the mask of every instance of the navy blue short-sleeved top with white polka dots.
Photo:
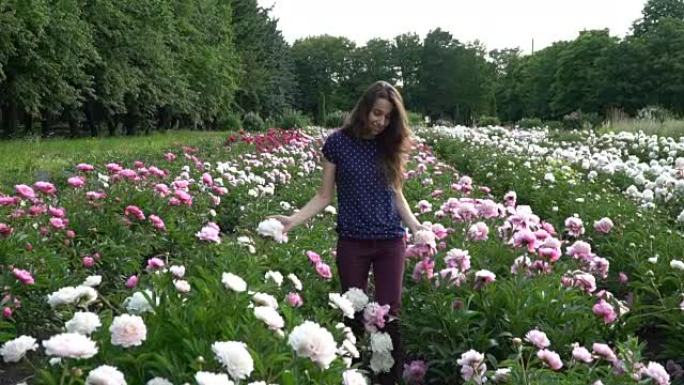
<svg viewBox="0 0 684 385">
<path fill-rule="evenodd" d="M 335 164 L 337 233 L 342 238 L 393 239 L 404 236 L 394 192 L 384 182 L 375 139 L 330 134 L 323 156 Z"/>
</svg>

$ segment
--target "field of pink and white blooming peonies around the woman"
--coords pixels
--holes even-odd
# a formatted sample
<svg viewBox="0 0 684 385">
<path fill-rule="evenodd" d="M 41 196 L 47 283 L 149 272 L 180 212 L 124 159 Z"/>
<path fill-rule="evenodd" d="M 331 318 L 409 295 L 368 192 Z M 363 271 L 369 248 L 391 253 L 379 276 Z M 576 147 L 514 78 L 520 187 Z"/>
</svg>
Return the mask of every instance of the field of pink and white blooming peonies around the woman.
<svg viewBox="0 0 684 385">
<path fill-rule="evenodd" d="M 417 130 L 407 384 L 681 383 L 684 142 Z M 387 309 L 340 292 L 325 131 L 234 134 L 0 186 L 0 375 L 29 384 L 370 384 Z M 345 318 L 362 312 L 363 333 Z M 2 383 L 5 383 L 4 381 Z"/>
</svg>

